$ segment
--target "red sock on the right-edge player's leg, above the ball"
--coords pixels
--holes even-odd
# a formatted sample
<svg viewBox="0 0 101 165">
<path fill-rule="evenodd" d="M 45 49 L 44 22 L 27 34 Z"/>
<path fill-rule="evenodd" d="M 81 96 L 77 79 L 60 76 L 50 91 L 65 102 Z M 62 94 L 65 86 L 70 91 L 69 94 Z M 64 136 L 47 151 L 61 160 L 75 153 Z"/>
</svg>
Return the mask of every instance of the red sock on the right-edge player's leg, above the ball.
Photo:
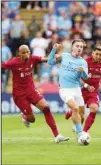
<svg viewBox="0 0 101 165">
<path fill-rule="evenodd" d="M 87 132 L 90 129 L 90 127 L 94 123 L 95 117 L 96 117 L 96 113 L 95 112 L 90 112 L 90 114 L 88 115 L 88 117 L 85 121 L 83 131 Z"/>
</svg>

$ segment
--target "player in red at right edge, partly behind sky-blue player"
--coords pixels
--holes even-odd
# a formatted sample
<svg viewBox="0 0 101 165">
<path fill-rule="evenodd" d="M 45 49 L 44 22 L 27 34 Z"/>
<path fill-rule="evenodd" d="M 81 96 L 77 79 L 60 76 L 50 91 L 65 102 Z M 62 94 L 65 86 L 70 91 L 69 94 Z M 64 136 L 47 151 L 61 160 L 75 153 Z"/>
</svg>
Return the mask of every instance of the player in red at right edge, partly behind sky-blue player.
<svg viewBox="0 0 101 165">
<path fill-rule="evenodd" d="M 87 107 L 90 108 L 90 114 L 88 115 L 83 130 L 87 132 L 92 124 L 94 123 L 96 112 L 98 111 L 98 105 L 99 105 L 99 96 L 98 96 L 98 89 L 99 89 L 99 83 L 101 83 L 101 46 L 96 45 L 93 49 L 92 56 L 88 57 L 86 59 L 88 63 L 88 72 L 89 72 L 89 79 L 82 81 L 83 88 L 82 88 L 82 94 L 85 101 L 85 104 L 87 104 Z M 84 115 L 83 112 L 80 112 L 82 118 Z M 71 116 L 71 111 L 67 111 L 65 118 L 69 119 Z"/>
</svg>

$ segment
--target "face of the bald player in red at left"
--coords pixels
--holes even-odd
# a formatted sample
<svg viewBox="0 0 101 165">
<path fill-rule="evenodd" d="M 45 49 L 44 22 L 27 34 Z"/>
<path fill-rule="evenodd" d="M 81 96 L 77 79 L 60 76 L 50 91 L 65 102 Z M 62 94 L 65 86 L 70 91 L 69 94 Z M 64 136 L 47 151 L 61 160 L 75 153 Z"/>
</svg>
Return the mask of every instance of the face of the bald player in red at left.
<svg viewBox="0 0 101 165">
<path fill-rule="evenodd" d="M 29 48 L 24 48 L 22 50 L 19 51 L 19 56 L 21 58 L 22 61 L 28 61 L 29 56 L 30 56 L 30 50 Z"/>
</svg>

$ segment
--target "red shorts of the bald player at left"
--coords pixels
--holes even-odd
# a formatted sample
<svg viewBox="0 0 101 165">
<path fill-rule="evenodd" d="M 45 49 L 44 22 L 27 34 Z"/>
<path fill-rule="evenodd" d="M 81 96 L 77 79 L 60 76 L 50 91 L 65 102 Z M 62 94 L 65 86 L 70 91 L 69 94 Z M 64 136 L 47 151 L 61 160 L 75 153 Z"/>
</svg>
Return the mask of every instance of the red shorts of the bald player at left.
<svg viewBox="0 0 101 165">
<path fill-rule="evenodd" d="M 21 112 L 27 115 L 33 112 L 31 104 L 36 105 L 41 99 L 43 99 L 43 95 L 37 89 L 35 89 L 28 95 L 13 95 L 13 99 Z"/>
</svg>

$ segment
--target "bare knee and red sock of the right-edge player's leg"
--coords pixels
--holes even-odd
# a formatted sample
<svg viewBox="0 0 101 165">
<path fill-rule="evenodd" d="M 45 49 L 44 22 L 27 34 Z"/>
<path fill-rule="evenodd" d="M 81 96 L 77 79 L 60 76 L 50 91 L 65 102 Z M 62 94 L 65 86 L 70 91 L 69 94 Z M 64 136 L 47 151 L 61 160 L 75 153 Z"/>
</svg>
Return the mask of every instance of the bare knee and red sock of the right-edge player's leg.
<svg viewBox="0 0 101 165">
<path fill-rule="evenodd" d="M 91 103 L 89 105 L 89 108 L 90 108 L 90 113 L 85 121 L 84 128 L 83 128 L 85 132 L 87 132 L 91 128 L 92 124 L 95 121 L 96 112 L 98 111 L 98 104 Z"/>
</svg>

